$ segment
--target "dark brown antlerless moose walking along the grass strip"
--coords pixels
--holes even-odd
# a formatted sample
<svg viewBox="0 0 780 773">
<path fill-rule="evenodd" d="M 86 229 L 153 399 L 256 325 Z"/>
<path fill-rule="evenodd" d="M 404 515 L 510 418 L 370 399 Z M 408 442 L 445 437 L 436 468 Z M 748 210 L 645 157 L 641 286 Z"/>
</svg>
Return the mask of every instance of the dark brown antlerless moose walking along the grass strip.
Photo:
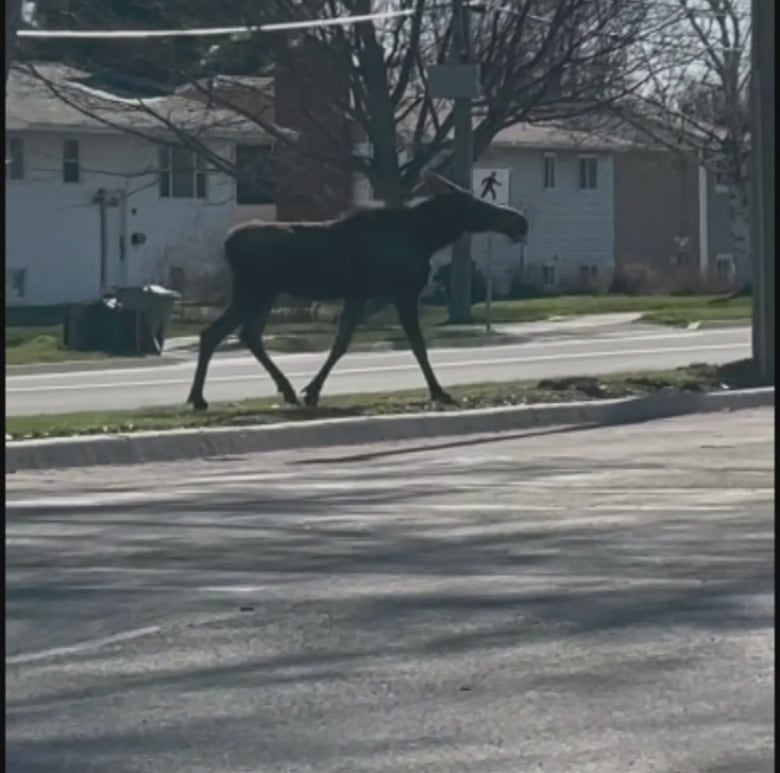
<svg viewBox="0 0 780 773">
<path fill-rule="evenodd" d="M 200 334 L 198 364 L 187 402 L 206 410 L 209 361 L 238 327 L 239 337 L 268 371 L 287 403 L 298 397 L 263 346 L 263 329 L 280 293 L 307 300 L 343 300 L 336 338 L 320 371 L 303 389 L 315 406 L 325 379 L 349 348 L 369 301 L 389 301 L 428 385 L 431 400 L 453 403 L 433 373 L 420 331 L 418 303 L 434 253 L 464 233 L 496 232 L 518 242 L 528 221 L 516 209 L 480 201 L 445 178 L 428 173 L 429 196 L 400 206 L 353 211 L 319 223 L 266 223 L 233 227 L 224 246 L 231 270 L 228 307 Z"/>
</svg>

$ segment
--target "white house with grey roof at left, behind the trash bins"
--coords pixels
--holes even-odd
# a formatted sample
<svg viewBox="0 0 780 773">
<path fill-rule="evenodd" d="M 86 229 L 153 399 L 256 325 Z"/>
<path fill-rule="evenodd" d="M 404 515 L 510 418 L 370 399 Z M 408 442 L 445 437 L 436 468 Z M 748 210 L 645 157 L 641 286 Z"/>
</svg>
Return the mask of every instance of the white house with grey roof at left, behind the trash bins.
<svg viewBox="0 0 780 773">
<path fill-rule="evenodd" d="M 80 86 L 78 71 L 44 69 L 66 96 L 77 95 L 104 120 L 12 71 L 6 87 L 6 304 L 69 303 L 95 299 L 116 285 L 168 282 L 177 268 L 221 260 L 225 232 L 236 221 L 275 219 L 272 196 L 257 206 L 238 205 L 239 183 L 212 161 L 126 131 L 172 139 L 153 111 L 202 137 L 217 156 L 234 159 L 270 148 L 256 124 L 182 95 L 120 99 Z"/>
</svg>

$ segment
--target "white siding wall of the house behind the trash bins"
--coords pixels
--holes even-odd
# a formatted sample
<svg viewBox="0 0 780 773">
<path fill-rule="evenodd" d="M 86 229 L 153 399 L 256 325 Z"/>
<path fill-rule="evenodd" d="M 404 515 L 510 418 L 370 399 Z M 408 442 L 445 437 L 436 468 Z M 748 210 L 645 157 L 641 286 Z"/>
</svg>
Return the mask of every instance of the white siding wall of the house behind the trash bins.
<svg viewBox="0 0 780 773">
<path fill-rule="evenodd" d="M 127 196 L 126 268 L 119 261 L 120 215 L 108 210 L 111 284 L 166 281 L 173 265 L 205 268 L 221 260 L 225 232 L 236 219 L 235 183 L 209 172 L 207 197 L 160 196 L 158 149 L 128 135 L 54 132 L 16 134 L 24 140 L 25 179 L 6 179 L 6 265 L 25 268 L 26 296 L 17 303 L 47 304 L 94 299 L 100 292 L 98 189 Z M 79 141 L 78 183 L 62 179 L 65 139 Z M 230 144 L 213 149 L 227 155 Z M 274 208 L 275 209 L 275 208 Z M 275 211 L 264 212 L 275 217 Z M 142 233 L 143 244 L 130 236 Z"/>
</svg>

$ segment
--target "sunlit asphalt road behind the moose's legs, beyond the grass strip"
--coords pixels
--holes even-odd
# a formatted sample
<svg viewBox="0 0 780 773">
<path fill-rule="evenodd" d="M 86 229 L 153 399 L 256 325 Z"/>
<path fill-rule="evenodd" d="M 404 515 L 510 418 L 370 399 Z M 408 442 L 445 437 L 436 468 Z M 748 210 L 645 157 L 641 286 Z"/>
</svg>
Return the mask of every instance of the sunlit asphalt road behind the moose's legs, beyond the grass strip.
<svg viewBox="0 0 780 773">
<path fill-rule="evenodd" d="M 692 362 L 728 362 L 750 356 L 747 327 L 669 330 L 622 325 L 569 335 L 545 336 L 513 345 L 434 349 L 430 359 L 446 387 L 480 381 L 614 373 L 669 368 Z M 324 353 L 276 355 L 296 389 L 303 388 Z M 194 355 L 169 364 L 6 374 L 6 415 L 69 413 L 181 405 L 194 372 Z M 348 353 L 323 390 L 328 394 L 414 389 L 424 386 L 410 351 Z M 225 352 L 211 363 L 206 399 L 212 402 L 271 396 L 275 387 L 251 355 Z"/>
</svg>

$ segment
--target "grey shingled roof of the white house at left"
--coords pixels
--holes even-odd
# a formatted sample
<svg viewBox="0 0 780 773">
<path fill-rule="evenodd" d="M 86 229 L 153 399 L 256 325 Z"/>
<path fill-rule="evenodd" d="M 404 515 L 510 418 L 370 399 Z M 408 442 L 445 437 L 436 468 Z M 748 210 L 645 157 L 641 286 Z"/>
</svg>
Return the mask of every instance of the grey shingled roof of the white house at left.
<svg viewBox="0 0 780 773">
<path fill-rule="evenodd" d="M 166 125 L 170 124 L 196 136 L 268 136 L 256 123 L 238 113 L 209 106 L 184 94 L 119 97 L 80 82 L 80 79 L 89 76 L 82 70 L 51 64 L 33 67 L 34 72 L 15 67 L 9 73 L 5 99 L 6 130 L 135 130 L 157 133 L 164 132 Z"/>
</svg>

